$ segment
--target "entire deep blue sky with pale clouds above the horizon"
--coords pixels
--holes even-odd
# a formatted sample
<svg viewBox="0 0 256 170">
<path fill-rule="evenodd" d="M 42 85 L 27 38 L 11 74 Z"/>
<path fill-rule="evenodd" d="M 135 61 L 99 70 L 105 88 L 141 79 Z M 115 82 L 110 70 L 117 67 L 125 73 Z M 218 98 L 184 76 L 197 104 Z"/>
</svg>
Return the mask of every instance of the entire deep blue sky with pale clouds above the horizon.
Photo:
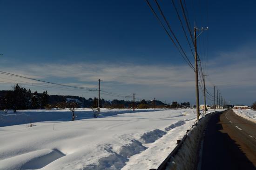
<svg viewBox="0 0 256 170">
<path fill-rule="evenodd" d="M 202 63 L 207 63 L 203 42 L 208 36 L 205 72 L 227 100 L 250 105 L 256 100 L 256 2 L 208 0 L 208 8 L 207 1 L 191 2 L 187 2 L 191 22 L 209 26 L 198 47 Z M 172 4 L 159 3 L 192 61 Z M 0 0 L 0 25 L 0 53 L 4 54 L 0 71 L 91 88 L 102 78 L 102 89 L 110 92 L 195 103 L 194 73 L 144 0 Z M 12 85 L 2 82 L 0 88 Z M 207 85 L 212 92 L 211 83 Z"/>
</svg>

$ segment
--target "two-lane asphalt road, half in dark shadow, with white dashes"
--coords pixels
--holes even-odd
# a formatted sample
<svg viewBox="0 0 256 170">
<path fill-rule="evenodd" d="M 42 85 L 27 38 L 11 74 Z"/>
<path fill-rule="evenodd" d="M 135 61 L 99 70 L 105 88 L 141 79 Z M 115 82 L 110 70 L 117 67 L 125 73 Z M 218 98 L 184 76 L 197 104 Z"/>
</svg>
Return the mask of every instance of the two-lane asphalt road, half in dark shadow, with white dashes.
<svg viewBox="0 0 256 170">
<path fill-rule="evenodd" d="M 232 110 L 210 118 L 199 170 L 256 170 L 256 124 Z"/>
</svg>

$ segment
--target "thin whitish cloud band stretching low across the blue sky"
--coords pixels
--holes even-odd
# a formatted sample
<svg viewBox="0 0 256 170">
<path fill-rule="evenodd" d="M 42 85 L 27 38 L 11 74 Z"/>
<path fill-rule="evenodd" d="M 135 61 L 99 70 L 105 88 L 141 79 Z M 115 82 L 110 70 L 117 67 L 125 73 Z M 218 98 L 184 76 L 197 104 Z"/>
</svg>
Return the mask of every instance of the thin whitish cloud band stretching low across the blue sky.
<svg viewBox="0 0 256 170">
<path fill-rule="evenodd" d="M 218 88 L 223 91 L 237 89 L 241 93 L 244 89 L 255 91 L 256 49 L 247 46 L 233 52 L 221 52 L 217 56 L 210 60 L 208 72 L 209 78 Z M 97 88 L 97 80 L 101 78 L 104 80 L 104 88 L 109 91 L 119 90 L 124 93 L 139 91 L 141 96 L 158 94 L 164 97 L 171 95 L 173 98 L 186 98 L 195 91 L 195 74 L 187 65 L 80 62 L 27 64 L 15 68 L 2 67 L 1 70 L 54 82 L 61 80 L 67 85 L 88 88 Z M 9 77 L 0 75 L 0 78 Z M 19 80 L 24 81 L 24 79 Z M 212 88 L 207 78 L 206 84 L 209 89 Z M 252 92 L 253 94 L 255 93 Z"/>
</svg>

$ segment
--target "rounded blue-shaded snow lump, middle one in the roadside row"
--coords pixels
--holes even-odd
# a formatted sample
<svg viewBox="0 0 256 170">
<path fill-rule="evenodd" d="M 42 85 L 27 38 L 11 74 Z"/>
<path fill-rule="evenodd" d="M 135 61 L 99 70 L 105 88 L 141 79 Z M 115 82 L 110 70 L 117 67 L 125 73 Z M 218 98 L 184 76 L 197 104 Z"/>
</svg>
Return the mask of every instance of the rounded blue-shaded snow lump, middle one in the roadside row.
<svg viewBox="0 0 256 170">
<path fill-rule="evenodd" d="M 165 131 L 161 131 L 159 129 L 155 129 L 154 131 L 149 131 L 147 133 L 144 133 L 139 141 L 144 144 L 155 142 L 157 139 L 165 135 Z"/>
</svg>

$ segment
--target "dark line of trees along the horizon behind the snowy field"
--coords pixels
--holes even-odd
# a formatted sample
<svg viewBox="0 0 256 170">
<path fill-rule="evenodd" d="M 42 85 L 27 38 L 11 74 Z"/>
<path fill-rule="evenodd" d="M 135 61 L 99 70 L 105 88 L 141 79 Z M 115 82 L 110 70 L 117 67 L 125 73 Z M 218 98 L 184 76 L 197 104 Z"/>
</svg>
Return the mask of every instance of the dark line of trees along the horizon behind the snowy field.
<svg viewBox="0 0 256 170">
<path fill-rule="evenodd" d="M 71 102 L 72 101 L 72 102 Z M 155 102 L 155 103 L 154 103 Z M 13 112 L 16 110 L 23 109 L 66 109 L 70 108 L 70 103 L 76 108 L 97 108 L 98 107 L 98 98 L 82 98 L 79 96 L 63 96 L 63 95 L 48 95 L 47 91 L 43 93 L 38 93 L 37 91 L 31 92 L 30 89 L 21 87 L 16 84 L 13 87 L 13 90 L 9 91 L 0 91 L 0 110 L 10 110 Z M 132 108 L 134 105 L 133 101 L 127 100 L 105 100 L 104 98 L 100 99 L 101 108 L 109 109 L 124 109 Z M 162 101 L 159 100 L 141 100 L 135 101 L 135 108 L 138 109 L 148 109 L 148 108 L 178 108 L 178 107 L 189 107 L 189 102 L 184 102 L 174 105 L 165 105 Z"/>
</svg>

